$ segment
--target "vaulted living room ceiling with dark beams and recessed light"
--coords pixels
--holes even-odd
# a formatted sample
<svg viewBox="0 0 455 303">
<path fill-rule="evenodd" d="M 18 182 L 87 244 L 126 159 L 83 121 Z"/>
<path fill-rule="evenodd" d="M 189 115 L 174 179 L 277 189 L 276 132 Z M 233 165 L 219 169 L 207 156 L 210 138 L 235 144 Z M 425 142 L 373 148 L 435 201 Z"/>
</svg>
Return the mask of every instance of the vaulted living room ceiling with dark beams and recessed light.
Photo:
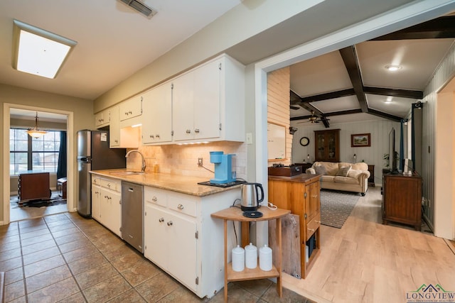
<svg viewBox="0 0 455 303">
<path fill-rule="evenodd" d="M 351 45 L 291 66 L 291 121 L 308 125 L 314 112 L 330 123 L 400 121 L 455 41 L 455 16 Z M 390 72 L 387 65 L 400 69 Z"/>
</svg>

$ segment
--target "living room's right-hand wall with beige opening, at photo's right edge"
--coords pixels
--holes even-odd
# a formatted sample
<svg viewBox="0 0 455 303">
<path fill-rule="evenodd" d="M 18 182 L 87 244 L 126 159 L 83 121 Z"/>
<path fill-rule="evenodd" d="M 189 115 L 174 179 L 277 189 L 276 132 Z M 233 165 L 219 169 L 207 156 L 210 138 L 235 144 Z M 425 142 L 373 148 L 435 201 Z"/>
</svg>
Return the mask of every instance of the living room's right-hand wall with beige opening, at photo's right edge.
<svg viewBox="0 0 455 303">
<path fill-rule="evenodd" d="M 453 108 L 450 107 L 450 99 L 445 93 L 454 91 L 454 85 L 451 84 L 450 88 L 446 87 L 451 79 L 455 75 L 455 45 L 452 45 L 451 49 L 447 53 L 444 60 L 437 68 L 434 73 L 434 77 L 429 82 L 427 87 L 424 89 L 424 106 L 423 111 L 423 136 L 422 136 L 422 181 L 423 181 L 423 195 L 424 202 L 424 216 L 434 225 L 435 236 L 443 238 L 454 238 L 455 237 L 455 220 L 449 220 L 449 216 L 452 216 L 452 209 L 455 209 L 454 194 L 449 194 L 452 199 L 444 197 L 443 194 L 448 188 L 441 187 L 438 180 L 446 180 L 454 174 L 451 166 L 441 165 L 437 167 L 436 161 L 441 164 L 442 159 L 437 157 L 435 152 L 441 151 L 444 153 L 443 139 L 437 142 L 441 136 L 446 136 L 451 142 L 454 141 L 453 133 L 446 130 L 446 127 L 450 128 L 451 123 L 454 120 Z M 453 80 L 452 80 L 453 82 Z M 444 89 L 444 94 L 441 94 L 441 101 L 439 100 L 438 92 Z M 453 102 L 453 101 L 452 101 Z M 449 114 L 449 116 L 447 116 Z M 447 120 L 448 119 L 448 120 Z M 453 130 L 453 128 L 452 128 Z M 439 147 L 439 143 L 442 144 Z M 449 155 L 453 158 L 454 153 L 446 153 L 443 155 Z M 454 187 L 450 187 L 455 190 Z M 451 226 L 449 221 L 451 221 Z"/>
</svg>

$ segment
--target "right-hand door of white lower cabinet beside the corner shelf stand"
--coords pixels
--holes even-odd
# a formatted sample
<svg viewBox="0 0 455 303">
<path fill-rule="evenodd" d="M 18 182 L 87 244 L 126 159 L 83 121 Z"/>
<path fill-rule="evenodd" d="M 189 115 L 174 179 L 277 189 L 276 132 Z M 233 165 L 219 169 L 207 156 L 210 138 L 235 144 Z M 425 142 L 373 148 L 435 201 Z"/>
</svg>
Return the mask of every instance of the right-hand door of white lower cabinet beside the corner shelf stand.
<svg viewBox="0 0 455 303">
<path fill-rule="evenodd" d="M 196 291 L 196 223 L 184 216 L 167 214 L 168 270 L 184 285 Z"/>
</svg>

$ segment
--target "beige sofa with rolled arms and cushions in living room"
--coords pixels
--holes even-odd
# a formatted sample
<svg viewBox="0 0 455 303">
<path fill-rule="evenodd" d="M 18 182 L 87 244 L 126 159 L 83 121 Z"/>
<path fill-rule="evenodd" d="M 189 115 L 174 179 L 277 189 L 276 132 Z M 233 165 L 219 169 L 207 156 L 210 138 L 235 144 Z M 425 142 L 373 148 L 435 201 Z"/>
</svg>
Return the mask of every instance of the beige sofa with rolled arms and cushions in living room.
<svg viewBox="0 0 455 303">
<path fill-rule="evenodd" d="M 314 162 L 307 174 L 321 175 L 321 188 L 360 192 L 368 189 L 368 164 L 365 162 Z"/>
</svg>

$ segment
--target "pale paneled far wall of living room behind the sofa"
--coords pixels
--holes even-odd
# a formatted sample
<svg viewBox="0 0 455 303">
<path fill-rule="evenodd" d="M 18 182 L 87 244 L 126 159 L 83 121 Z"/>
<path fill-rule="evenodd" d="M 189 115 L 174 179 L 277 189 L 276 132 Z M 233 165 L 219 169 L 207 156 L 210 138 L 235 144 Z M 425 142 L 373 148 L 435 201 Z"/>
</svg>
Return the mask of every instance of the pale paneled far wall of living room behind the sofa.
<svg viewBox="0 0 455 303">
<path fill-rule="evenodd" d="M 395 128 L 395 150 L 400 153 L 400 123 L 390 120 L 371 120 L 351 123 L 331 123 L 330 128 L 324 128 L 322 123 L 302 126 L 301 123 L 292 121 L 291 126 L 298 128 L 294 133 L 292 142 L 292 162 L 303 162 L 306 155 L 310 155 L 310 161 L 314 162 L 314 131 L 323 129 L 340 129 L 340 160 L 341 162 L 353 162 L 353 155 L 357 155 L 357 162 L 364 160 L 369 165 L 375 165 L 375 184 L 382 183 L 382 168 L 385 167 L 383 156 L 389 153 L 389 132 Z M 350 147 L 350 135 L 355 133 L 370 133 L 371 146 L 362 148 Z M 405 142 L 407 131 L 405 133 Z M 310 143 L 301 146 L 301 137 L 308 137 Z"/>
</svg>

